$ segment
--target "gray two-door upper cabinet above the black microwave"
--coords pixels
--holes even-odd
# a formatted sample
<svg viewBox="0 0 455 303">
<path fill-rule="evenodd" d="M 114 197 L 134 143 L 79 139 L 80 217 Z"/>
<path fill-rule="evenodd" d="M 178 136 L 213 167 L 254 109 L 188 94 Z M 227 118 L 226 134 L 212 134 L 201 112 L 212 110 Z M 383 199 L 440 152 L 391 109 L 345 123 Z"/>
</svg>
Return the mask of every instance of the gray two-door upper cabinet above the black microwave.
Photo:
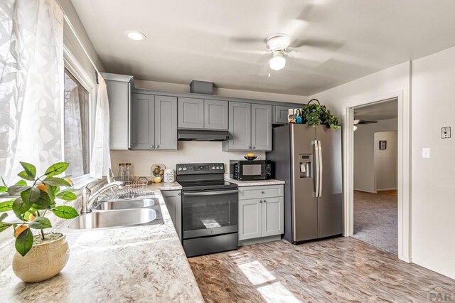
<svg viewBox="0 0 455 303">
<path fill-rule="evenodd" d="M 229 102 L 229 132 L 224 151 L 272 151 L 272 105 Z"/>
</svg>

